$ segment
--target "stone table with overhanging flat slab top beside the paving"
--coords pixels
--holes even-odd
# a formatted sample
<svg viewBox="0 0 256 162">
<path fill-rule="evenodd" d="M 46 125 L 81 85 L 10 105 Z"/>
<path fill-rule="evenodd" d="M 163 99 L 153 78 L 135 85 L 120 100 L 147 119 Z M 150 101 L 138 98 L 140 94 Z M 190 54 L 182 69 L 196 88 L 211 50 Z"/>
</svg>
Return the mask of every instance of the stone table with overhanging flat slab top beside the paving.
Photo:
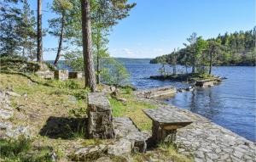
<svg viewBox="0 0 256 162">
<path fill-rule="evenodd" d="M 143 112 L 153 121 L 151 137 L 153 144 L 175 142 L 177 129 L 193 122 L 189 117 L 178 113 L 176 109 L 143 109 Z"/>
</svg>

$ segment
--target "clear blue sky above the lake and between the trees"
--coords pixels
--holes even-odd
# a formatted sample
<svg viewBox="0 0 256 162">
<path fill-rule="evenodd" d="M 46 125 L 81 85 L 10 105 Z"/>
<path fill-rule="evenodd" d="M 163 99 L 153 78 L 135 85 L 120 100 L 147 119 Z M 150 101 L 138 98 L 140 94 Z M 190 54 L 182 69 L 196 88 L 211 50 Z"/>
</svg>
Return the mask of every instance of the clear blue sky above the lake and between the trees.
<svg viewBox="0 0 256 162">
<path fill-rule="evenodd" d="M 55 14 L 43 0 L 43 27 Z M 192 32 L 211 38 L 225 32 L 247 31 L 255 23 L 255 0 L 131 0 L 137 6 L 110 32 L 108 51 L 119 58 L 154 58 L 182 48 Z M 29 0 L 36 10 L 37 1 Z M 44 36 L 44 47 L 57 47 L 58 39 Z M 44 60 L 55 59 L 44 52 Z"/>
</svg>

